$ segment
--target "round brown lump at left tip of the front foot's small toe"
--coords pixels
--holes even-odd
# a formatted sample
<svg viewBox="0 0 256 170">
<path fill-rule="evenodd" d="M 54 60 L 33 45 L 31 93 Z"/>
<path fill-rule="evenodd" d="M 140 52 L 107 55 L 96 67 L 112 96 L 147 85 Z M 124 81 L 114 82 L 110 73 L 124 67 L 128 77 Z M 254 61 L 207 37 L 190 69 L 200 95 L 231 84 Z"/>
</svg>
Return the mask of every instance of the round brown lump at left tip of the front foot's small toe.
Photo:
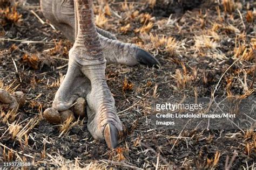
<svg viewBox="0 0 256 170">
<path fill-rule="evenodd" d="M 52 124 L 59 124 L 62 122 L 59 112 L 56 109 L 48 108 L 43 112 L 44 118 Z"/>
</svg>

